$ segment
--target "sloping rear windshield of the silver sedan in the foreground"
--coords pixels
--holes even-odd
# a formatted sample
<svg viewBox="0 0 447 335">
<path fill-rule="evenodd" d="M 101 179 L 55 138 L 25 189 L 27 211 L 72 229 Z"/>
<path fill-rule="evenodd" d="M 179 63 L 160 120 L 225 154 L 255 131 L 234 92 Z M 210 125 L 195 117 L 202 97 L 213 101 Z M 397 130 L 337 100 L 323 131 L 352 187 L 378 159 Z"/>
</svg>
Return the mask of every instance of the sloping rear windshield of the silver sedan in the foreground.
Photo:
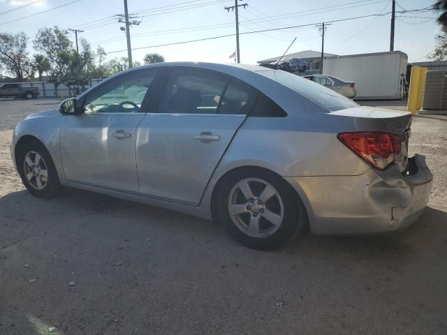
<svg viewBox="0 0 447 335">
<path fill-rule="evenodd" d="M 328 112 L 336 110 L 346 110 L 347 108 L 358 107 L 349 98 L 345 98 L 332 89 L 328 89 L 320 84 L 316 84 L 311 80 L 293 75 L 285 71 L 271 71 L 274 73 L 276 80 L 286 87 L 297 91 L 302 96 L 314 101 Z"/>
</svg>

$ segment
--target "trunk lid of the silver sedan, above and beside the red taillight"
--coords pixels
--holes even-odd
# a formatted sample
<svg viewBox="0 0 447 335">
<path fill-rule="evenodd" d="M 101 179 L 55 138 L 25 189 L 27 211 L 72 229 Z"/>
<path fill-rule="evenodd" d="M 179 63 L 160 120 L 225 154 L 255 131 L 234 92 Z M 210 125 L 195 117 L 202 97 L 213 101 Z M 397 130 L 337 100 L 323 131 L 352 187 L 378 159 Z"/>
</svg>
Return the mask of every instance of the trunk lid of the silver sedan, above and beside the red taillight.
<svg viewBox="0 0 447 335">
<path fill-rule="evenodd" d="M 400 135 L 400 156 L 396 158 L 401 172 L 406 170 L 408 164 L 408 143 L 411 135 L 412 115 L 400 110 L 387 110 L 385 108 L 359 106 L 337 110 L 330 114 L 344 115 L 349 117 L 362 117 L 368 119 L 380 119 L 390 133 Z M 372 129 L 373 131 L 374 129 Z"/>
</svg>

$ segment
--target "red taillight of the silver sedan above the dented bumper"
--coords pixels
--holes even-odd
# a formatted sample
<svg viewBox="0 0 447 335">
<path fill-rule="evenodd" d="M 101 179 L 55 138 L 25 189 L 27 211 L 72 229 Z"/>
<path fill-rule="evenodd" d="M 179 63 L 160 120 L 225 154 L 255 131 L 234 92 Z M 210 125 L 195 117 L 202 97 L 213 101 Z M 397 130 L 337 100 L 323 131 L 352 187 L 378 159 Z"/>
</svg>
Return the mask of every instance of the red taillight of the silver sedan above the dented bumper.
<svg viewBox="0 0 447 335">
<path fill-rule="evenodd" d="M 337 137 L 346 147 L 379 170 L 384 170 L 400 157 L 399 135 L 373 131 L 341 133 Z"/>
</svg>

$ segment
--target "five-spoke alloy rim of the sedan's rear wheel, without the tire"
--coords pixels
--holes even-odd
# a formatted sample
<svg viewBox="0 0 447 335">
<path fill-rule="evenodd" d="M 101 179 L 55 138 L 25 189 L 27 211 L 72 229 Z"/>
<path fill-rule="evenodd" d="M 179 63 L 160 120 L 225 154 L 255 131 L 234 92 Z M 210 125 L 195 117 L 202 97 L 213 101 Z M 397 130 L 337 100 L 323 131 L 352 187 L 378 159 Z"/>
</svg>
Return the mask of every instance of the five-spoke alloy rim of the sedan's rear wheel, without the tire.
<svg viewBox="0 0 447 335">
<path fill-rule="evenodd" d="M 228 212 L 233 223 L 251 237 L 268 237 L 284 221 L 284 204 L 279 192 L 267 181 L 242 179 L 231 189 Z"/>
</svg>

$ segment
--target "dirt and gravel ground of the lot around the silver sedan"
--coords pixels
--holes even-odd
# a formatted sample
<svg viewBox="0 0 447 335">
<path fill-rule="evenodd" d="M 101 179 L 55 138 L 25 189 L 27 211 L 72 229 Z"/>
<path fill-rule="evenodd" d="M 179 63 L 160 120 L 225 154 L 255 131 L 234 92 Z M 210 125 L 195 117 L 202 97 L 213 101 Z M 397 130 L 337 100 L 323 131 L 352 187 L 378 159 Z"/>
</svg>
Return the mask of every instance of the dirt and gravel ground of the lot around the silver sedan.
<svg viewBox="0 0 447 335">
<path fill-rule="evenodd" d="M 410 149 L 435 179 L 410 228 L 261 252 L 163 209 L 29 195 L 12 129 L 57 103 L 0 101 L 0 334 L 447 334 L 445 118 L 413 121 Z"/>
</svg>

